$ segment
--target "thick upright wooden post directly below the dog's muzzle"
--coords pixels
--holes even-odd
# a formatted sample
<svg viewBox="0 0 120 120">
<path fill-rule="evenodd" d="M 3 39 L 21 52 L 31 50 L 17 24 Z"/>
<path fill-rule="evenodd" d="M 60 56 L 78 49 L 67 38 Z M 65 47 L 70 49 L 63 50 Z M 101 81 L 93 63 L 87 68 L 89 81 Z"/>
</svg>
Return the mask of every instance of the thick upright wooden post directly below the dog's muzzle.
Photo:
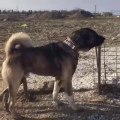
<svg viewBox="0 0 120 120">
<path fill-rule="evenodd" d="M 101 94 L 101 46 L 96 47 L 96 60 L 98 69 L 98 93 Z"/>
</svg>

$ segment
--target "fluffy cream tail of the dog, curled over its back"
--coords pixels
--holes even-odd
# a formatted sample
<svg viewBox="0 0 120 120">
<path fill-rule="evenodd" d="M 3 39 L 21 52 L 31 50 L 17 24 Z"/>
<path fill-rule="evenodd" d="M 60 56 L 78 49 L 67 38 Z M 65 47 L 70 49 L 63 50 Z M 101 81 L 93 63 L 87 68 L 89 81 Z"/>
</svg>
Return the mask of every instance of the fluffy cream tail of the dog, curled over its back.
<svg viewBox="0 0 120 120">
<path fill-rule="evenodd" d="M 10 54 L 13 54 L 14 50 L 18 49 L 19 47 L 31 47 L 31 46 L 32 40 L 28 34 L 23 32 L 15 33 L 7 41 L 5 46 L 5 53 L 6 56 L 8 56 Z"/>
</svg>

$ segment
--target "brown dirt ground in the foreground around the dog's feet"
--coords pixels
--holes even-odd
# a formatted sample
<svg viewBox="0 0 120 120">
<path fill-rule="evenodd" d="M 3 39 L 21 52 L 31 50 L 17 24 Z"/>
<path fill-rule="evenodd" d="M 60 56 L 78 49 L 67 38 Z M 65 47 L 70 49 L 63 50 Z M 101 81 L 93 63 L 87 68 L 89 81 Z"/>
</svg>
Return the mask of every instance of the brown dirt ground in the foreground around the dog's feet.
<svg viewBox="0 0 120 120">
<path fill-rule="evenodd" d="M 78 111 L 69 108 L 64 93 L 59 98 L 63 106 L 56 107 L 52 103 L 52 95 L 49 91 L 31 90 L 29 94 L 33 101 L 27 101 L 20 92 L 17 99 L 16 110 L 21 115 L 19 120 L 119 120 L 120 99 L 119 96 L 108 94 L 99 95 L 94 90 L 76 90 L 74 92 Z M 120 94 L 119 94 L 120 95 Z M 0 120 L 13 120 L 13 118 L 1 108 Z"/>
</svg>

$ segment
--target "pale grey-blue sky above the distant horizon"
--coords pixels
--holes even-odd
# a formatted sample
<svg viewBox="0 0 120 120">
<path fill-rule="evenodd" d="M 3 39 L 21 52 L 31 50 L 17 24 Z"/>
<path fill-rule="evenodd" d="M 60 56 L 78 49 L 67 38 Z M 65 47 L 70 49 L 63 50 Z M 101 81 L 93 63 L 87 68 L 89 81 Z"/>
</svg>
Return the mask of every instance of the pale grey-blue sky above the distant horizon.
<svg viewBox="0 0 120 120">
<path fill-rule="evenodd" d="M 0 0 L 0 9 L 13 10 L 72 10 L 120 12 L 120 0 Z"/>
</svg>

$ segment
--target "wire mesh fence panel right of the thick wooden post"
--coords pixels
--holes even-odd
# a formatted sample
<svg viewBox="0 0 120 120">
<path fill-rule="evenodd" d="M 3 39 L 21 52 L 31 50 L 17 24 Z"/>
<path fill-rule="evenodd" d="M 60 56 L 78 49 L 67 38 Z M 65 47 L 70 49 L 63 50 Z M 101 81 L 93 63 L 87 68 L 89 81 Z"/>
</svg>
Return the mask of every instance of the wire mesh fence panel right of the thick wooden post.
<svg viewBox="0 0 120 120">
<path fill-rule="evenodd" d="M 119 84 L 120 80 L 120 41 L 114 46 L 104 44 L 101 49 L 101 81 Z"/>
</svg>

